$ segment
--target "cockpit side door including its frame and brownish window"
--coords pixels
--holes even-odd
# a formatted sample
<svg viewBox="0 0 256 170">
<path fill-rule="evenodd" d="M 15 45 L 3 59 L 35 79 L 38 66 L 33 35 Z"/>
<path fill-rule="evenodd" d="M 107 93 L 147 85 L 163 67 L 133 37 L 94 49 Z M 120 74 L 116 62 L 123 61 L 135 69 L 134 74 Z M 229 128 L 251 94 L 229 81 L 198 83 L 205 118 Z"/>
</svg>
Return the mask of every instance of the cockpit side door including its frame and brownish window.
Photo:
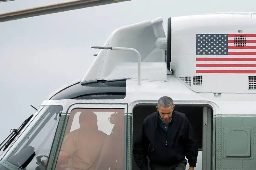
<svg viewBox="0 0 256 170">
<path fill-rule="evenodd" d="M 93 164 L 90 168 L 96 170 L 126 170 L 127 155 L 131 152 L 128 133 L 131 116 L 128 116 L 127 110 L 127 103 L 71 105 L 67 109 L 67 118 L 63 123 L 56 152 L 59 156 L 55 157 L 53 169 L 62 165 L 58 157 L 61 154 L 60 150 L 63 150 L 70 152 L 69 154 L 77 152 L 78 156 L 88 158 L 85 161 Z M 76 145 L 73 144 L 74 140 Z M 72 159 L 75 159 L 75 156 L 72 156 Z M 77 160 L 81 162 L 79 158 Z M 77 166 L 75 164 L 76 160 L 69 161 L 69 165 Z M 79 166 L 89 168 L 88 164 Z"/>
</svg>

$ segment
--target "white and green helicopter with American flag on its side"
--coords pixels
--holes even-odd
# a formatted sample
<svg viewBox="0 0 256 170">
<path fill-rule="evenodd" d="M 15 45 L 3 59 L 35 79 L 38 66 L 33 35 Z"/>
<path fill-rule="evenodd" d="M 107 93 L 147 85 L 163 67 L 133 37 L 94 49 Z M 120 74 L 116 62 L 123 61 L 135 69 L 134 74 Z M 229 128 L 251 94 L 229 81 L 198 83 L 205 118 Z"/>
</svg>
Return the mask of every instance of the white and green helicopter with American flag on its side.
<svg viewBox="0 0 256 170">
<path fill-rule="evenodd" d="M 54 7 L 48 12 L 61 5 Z M 46 12 L 35 9 L 0 15 L 0 22 Z M 193 126 L 199 141 L 195 170 L 252 169 L 255 18 L 256 13 L 170 17 L 167 33 L 162 17 L 117 28 L 103 46 L 92 46 L 101 50 L 83 78 L 50 94 L 1 143 L 0 169 L 68 169 L 79 160 L 62 163 L 66 151 L 85 154 L 88 170 L 139 170 L 133 142 L 162 96 L 171 97 L 174 110 Z M 82 126 L 98 136 L 86 136 Z M 80 140 L 88 145 L 73 150 Z"/>
</svg>

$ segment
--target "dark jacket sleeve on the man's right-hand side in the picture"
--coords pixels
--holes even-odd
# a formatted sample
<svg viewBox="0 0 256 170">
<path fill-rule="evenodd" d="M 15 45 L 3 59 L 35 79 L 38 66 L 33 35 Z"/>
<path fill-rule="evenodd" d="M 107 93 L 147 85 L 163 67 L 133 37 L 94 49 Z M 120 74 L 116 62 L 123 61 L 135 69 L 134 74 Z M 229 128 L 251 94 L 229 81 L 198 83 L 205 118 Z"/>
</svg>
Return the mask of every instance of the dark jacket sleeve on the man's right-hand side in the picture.
<svg viewBox="0 0 256 170">
<path fill-rule="evenodd" d="M 198 156 L 198 143 L 192 125 L 186 119 L 185 149 L 186 158 L 190 167 L 196 167 Z"/>
</svg>

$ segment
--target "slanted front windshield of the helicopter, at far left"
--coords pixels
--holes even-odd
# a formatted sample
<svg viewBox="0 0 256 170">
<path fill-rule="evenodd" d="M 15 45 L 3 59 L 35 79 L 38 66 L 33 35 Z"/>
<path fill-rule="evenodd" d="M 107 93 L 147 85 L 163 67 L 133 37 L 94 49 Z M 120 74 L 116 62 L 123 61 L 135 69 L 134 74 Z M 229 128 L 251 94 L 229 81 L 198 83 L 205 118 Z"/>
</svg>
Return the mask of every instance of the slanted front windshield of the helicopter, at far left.
<svg viewBox="0 0 256 170">
<path fill-rule="evenodd" d="M 0 170 L 35 170 L 38 166 L 37 157 L 49 156 L 62 106 L 44 105 L 38 111 L 38 115 L 29 124 L 27 133 L 21 134 L 17 139 L 18 145 L 11 146 L 1 159 Z"/>
</svg>

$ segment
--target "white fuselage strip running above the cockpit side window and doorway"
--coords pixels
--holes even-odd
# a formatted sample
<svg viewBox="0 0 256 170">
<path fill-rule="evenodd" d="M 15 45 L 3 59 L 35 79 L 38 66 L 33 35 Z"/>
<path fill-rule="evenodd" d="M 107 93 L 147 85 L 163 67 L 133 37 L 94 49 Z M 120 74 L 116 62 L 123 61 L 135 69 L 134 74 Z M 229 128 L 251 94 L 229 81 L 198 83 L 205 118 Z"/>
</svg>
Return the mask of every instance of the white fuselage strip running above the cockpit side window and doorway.
<svg viewBox="0 0 256 170">
<path fill-rule="evenodd" d="M 256 95 L 254 94 L 199 94 L 187 88 L 174 75 L 168 75 L 166 82 L 127 80 L 126 97 L 121 100 L 86 100 L 86 103 L 128 103 L 128 112 L 139 103 L 157 103 L 162 96 L 170 96 L 175 104 L 207 104 L 213 108 L 215 115 L 255 115 Z M 241 100 L 240 100 L 241 99 Z M 85 100 L 45 100 L 45 104 L 72 105 L 84 103 Z M 239 107 L 238 107 L 239 105 Z M 240 107 L 241 106 L 241 107 Z M 244 109 L 246 108 L 246 109 Z M 66 107 L 63 112 L 66 112 Z"/>
</svg>

